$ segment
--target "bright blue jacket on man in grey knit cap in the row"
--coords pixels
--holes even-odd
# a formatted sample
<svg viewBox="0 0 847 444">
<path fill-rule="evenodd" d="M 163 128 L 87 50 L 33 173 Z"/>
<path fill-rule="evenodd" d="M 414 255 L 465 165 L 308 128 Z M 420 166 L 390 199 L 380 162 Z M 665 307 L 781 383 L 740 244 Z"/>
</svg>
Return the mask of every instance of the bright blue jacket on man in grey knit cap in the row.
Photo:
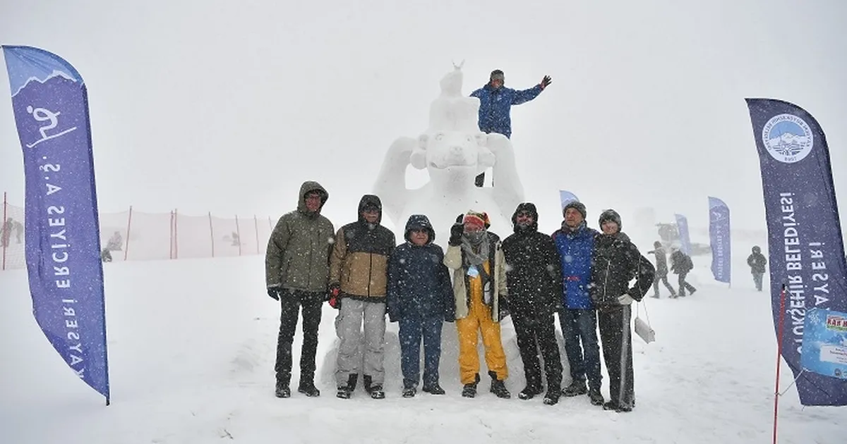
<svg viewBox="0 0 847 444">
<path fill-rule="evenodd" d="M 597 231 L 585 225 L 570 231 L 556 230 L 553 241 L 562 257 L 562 280 L 564 281 L 564 306 L 568 309 L 588 310 L 594 308 L 589 294 L 591 282 L 591 255 Z"/>
</svg>

